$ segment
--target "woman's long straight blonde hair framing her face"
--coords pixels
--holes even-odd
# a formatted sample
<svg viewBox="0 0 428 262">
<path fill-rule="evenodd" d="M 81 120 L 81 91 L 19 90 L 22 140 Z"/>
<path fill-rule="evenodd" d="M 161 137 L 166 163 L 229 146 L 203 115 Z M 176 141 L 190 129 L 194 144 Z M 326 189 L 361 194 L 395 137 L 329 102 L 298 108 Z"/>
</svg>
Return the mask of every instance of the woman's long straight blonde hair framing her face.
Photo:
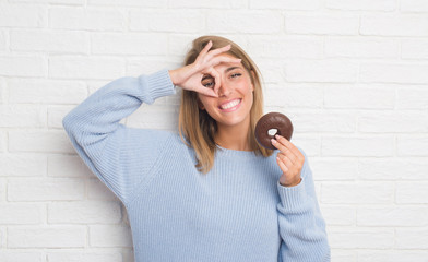
<svg viewBox="0 0 428 262">
<path fill-rule="evenodd" d="M 192 48 L 186 56 L 185 66 L 193 63 L 210 40 L 213 43 L 211 49 L 231 45 L 230 50 L 226 53 L 240 58 L 243 68 L 248 71 L 254 86 L 248 142 L 250 148 L 257 155 L 265 157 L 272 155 L 273 151 L 260 146 L 254 138 L 255 123 L 263 115 L 263 94 L 260 80 L 261 74 L 251 58 L 229 39 L 219 36 L 202 36 L 193 40 Z M 217 150 L 214 141 L 217 123 L 206 110 L 199 108 L 197 92 L 182 90 L 178 126 L 181 140 L 192 147 L 197 154 L 198 164 L 195 167 L 204 174 L 209 172 L 214 165 L 214 155 Z"/>
</svg>

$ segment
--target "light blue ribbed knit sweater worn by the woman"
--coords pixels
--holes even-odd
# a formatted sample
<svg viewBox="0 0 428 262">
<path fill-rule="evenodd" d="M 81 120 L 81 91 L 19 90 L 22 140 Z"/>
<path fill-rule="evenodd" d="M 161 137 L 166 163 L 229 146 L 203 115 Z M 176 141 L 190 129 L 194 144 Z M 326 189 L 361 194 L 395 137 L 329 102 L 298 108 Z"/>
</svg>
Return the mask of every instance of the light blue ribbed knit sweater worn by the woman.
<svg viewBox="0 0 428 262">
<path fill-rule="evenodd" d="M 135 262 L 330 261 L 305 153 L 302 181 L 285 188 L 276 153 L 218 147 L 203 175 L 177 133 L 119 123 L 171 94 L 167 70 L 121 78 L 63 119 L 79 155 L 127 207 Z"/>
</svg>

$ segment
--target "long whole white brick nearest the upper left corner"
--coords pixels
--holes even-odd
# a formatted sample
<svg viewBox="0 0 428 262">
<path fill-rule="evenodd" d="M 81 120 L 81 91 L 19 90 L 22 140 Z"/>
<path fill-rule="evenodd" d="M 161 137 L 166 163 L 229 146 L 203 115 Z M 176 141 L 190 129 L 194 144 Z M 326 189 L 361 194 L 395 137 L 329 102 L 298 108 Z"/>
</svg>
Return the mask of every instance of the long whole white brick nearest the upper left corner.
<svg viewBox="0 0 428 262">
<path fill-rule="evenodd" d="M 88 53 L 90 37 L 83 32 L 13 29 L 10 46 L 13 51 Z"/>
</svg>

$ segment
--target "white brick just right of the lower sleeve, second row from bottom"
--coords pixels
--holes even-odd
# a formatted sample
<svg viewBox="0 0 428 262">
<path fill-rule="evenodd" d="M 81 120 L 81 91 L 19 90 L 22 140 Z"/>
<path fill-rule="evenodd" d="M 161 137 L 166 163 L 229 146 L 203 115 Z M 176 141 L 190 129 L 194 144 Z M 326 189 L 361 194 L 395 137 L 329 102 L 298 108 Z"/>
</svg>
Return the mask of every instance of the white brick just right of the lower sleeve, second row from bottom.
<svg viewBox="0 0 428 262">
<path fill-rule="evenodd" d="M 329 230 L 331 248 L 336 249 L 391 249 L 394 230 L 388 228 L 334 228 Z"/>
</svg>

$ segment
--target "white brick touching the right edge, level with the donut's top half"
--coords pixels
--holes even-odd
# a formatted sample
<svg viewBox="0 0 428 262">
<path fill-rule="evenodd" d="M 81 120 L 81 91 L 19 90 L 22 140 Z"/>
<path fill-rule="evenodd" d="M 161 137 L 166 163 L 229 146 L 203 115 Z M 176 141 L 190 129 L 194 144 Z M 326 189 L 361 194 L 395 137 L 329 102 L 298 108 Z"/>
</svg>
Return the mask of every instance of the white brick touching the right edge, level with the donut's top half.
<svg viewBox="0 0 428 262">
<path fill-rule="evenodd" d="M 428 114 L 371 111 L 358 116 L 358 131 L 368 133 L 411 133 L 428 131 Z"/>
</svg>

